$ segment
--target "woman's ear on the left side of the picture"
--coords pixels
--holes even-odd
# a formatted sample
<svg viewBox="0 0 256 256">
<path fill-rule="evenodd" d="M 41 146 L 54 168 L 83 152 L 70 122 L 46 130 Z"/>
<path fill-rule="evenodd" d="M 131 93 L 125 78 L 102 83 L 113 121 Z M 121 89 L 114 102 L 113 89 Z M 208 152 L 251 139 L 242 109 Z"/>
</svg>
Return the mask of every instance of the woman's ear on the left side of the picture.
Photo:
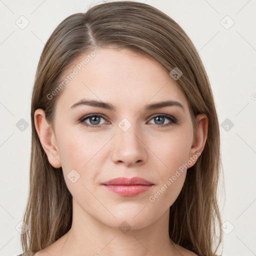
<svg viewBox="0 0 256 256">
<path fill-rule="evenodd" d="M 61 167 L 55 135 L 52 126 L 45 119 L 43 109 L 34 111 L 34 124 L 49 163 L 55 168 Z"/>
</svg>

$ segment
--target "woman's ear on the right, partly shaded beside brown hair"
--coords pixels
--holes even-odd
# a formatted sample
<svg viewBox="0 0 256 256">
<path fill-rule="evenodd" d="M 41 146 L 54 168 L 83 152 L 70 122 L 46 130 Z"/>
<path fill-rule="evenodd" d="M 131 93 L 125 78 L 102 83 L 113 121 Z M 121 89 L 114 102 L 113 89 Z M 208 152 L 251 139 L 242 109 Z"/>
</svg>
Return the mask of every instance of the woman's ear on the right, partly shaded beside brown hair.
<svg viewBox="0 0 256 256">
<path fill-rule="evenodd" d="M 196 129 L 196 134 L 193 138 L 193 142 L 191 144 L 191 148 L 189 151 L 189 157 L 193 158 L 196 155 L 196 158 L 201 154 L 205 141 L 207 138 L 207 132 L 208 132 L 208 118 L 206 114 L 198 114 L 196 116 L 196 124 L 197 124 L 197 129 Z M 189 158 L 189 159 L 190 159 Z M 191 164 L 189 164 L 188 168 L 192 167 L 195 164 L 195 160 L 192 161 Z"/>
</svg>

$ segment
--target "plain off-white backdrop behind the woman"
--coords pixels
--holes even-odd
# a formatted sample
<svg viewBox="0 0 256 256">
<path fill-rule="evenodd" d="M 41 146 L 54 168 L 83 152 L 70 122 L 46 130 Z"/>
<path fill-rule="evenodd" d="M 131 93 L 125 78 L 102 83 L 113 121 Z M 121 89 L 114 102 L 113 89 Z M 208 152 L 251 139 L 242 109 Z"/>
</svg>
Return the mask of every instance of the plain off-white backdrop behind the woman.
<svg viewBox="0 0 256 256">
<path fill-rule="evenodd" d="M 28 195 L 30 99 L 40 53 L 65 17 L 97 3 L 102 1 L 0 0 L 0 255 L 22 252 L 18 227 Z M 211 82 L 223 163 L 222 255 L 256 255 L 256 1 L 145 3 L 185 30 Z"/>
</svg>

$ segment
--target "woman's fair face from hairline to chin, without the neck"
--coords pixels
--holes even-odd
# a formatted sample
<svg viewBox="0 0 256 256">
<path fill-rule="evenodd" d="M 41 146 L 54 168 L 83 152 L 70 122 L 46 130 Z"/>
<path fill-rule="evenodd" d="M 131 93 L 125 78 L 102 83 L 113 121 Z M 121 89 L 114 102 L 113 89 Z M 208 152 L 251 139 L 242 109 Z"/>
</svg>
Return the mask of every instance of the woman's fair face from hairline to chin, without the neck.
<svg viewBox="0 0 256 256">
<path fill-rule="evenodd" d="M 86 65 L 77 65 L 86 55 L 67 72 L 74 75 L 59 92 L 56 154 L 47 152 L 48 159 L 62 167 L 76 211 L 109 226 L 126 221 L 141 228 L 169 210 L 187 166 L 199 156 L 188 104 L 175 80 L 152 59 L 128 49 L 99 48 Z M 163 101 L 178 103 L 159 104 Z M 111 186 L 120 193 L 103 185 L 134 176 L 153 185 Z"/>
</svg>

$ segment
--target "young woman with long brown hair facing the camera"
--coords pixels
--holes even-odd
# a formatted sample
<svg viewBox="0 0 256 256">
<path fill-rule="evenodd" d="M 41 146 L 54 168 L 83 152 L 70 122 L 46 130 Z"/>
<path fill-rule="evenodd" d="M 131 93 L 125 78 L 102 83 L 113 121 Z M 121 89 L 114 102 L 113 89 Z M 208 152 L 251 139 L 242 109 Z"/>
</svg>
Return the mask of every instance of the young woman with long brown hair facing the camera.
<svg viewBox="0 0 256 256">
<path fill-rule="evenodd" d="M 117 1 L 65 18 L 40 56 L 31 124 L 23 255 L 215 255 L 217 114 L 166 14 Z"/>
</svg>

